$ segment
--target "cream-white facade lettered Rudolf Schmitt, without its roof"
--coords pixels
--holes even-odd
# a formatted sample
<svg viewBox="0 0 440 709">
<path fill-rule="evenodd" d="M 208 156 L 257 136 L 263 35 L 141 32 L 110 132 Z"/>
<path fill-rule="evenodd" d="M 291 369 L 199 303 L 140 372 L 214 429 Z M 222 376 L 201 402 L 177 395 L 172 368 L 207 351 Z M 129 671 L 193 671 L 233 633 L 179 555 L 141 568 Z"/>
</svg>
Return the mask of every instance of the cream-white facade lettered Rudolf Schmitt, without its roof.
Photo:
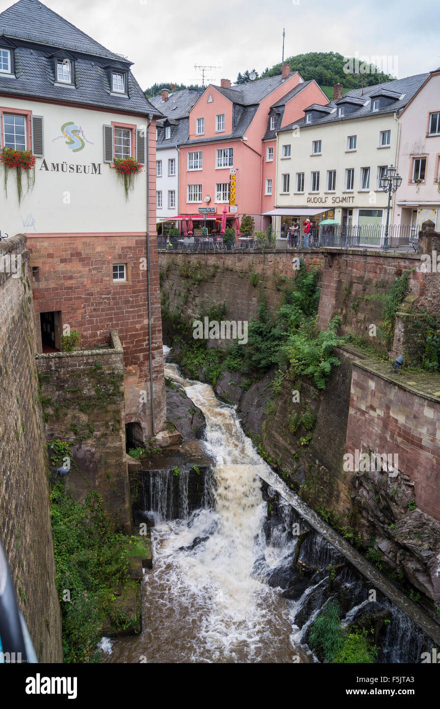
<svg viewBox="0 0 440 709">
<path fill-rule="evenodd" d="M 313 215 L 317 222 L 384 224 L 388 196 L 379 187 L 380 169 L 395 165 L 397 127 L 395 114 L 387 113 L 279 132 L 276 207 L 292 207 L 293 216 L 295 207 L 322 207 L 322 215 Z M 283 218 L 276 220 L 280 230 Z"/>
</svg>

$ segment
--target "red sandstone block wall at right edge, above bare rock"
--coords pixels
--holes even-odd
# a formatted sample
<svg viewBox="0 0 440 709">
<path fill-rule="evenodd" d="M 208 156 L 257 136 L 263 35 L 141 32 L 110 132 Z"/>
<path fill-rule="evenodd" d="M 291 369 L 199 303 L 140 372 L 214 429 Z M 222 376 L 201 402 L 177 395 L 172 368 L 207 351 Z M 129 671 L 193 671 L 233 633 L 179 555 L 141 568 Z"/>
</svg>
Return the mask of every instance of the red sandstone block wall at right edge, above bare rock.
<svg viewBox="0 0 440 709">
<path fill-rule="evenodd" d="M 353 364 L 346 452 L 397 453 L 417 507 L 440 520 L 440 404 Z"/>
</svg>

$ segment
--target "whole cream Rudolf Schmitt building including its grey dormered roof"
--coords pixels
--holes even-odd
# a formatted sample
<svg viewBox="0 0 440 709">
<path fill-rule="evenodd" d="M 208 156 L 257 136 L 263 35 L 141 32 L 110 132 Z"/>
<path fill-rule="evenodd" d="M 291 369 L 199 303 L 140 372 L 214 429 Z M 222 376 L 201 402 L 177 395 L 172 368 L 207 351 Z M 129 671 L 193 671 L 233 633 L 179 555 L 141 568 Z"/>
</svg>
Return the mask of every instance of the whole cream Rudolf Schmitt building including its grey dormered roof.
<svg viewBox="0 0 440 709">
<path fill-rule="evenodd" d="M 309 106 L 304 119 L 278 131 L 271 214 L 279 236 L 295 218 L 301 230 L 305 218 L 316 225 L 326 218 L 343 227 L 385 224 L 388 195 L 380 189 L 380 178 L 396 164 L 399 114 L 427 76 L 344 96 L 337 84 L 333 101 Z"/>
</svg>

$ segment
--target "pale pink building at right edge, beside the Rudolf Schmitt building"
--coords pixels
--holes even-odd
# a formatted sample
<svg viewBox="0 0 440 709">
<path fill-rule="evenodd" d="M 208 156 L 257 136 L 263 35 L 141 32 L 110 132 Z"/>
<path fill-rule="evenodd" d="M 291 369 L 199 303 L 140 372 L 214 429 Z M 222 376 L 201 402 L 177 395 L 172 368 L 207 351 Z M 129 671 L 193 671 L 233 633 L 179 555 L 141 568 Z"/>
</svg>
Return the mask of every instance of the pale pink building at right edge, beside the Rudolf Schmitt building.
<svg viewBox="0 0 440 709">
<path fill-rule="evenodd" d="M 415 227 L 430 219 L 440 230 L 440 68 L 428 75 L 399 116 L 395 223 Z"/>
</svg>

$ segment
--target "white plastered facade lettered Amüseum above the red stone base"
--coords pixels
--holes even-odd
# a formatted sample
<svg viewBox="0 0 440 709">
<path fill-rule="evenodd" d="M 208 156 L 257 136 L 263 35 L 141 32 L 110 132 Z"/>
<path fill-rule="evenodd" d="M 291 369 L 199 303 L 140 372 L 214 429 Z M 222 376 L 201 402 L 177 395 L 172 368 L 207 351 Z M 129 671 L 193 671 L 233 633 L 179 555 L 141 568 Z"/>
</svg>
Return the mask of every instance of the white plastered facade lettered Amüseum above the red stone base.
<svg viewBox="0 0 440 709">
<path fill-rule="evenodd" d="M 26 149 L 33 149 L 30 114 L 43 116 L 44 157 L 36 159 L 35 184 L 27 193 L 26 175 L 23 174 L 21 204 L 18 204 L 13 169 L 9 171 L 7 199 L 4 177 L 0 176 L 2 235 L 5 232 L 9 235 L 23 232 L 79 235 L 145 233 L 147 173 L 144 169 L 135 177 L 134 189 L 130 192 L 127 203 L 123 184 L 118 179 L 112 163 L 104 162 L 103 127 L 113 124 L 114 129 L 118 124 L 122 124 L 125 130 L 128 128 L 132 155 L 136 155 L 135 141 L 144 140 L 146 160 L 146 138 L 140 138 L 136 132 L 142 130 L 146 136 L 146 116 L 141 118 L 129 113 L 94 111 L 91 108 L 2 96 L 1 147 L 5 144 L 5 116 L 14 115 L 14 109 L 28 112 Z M 7 120 L 6 118 L 6 123 Z M 153 135 L 154 141 L 153 130 L 154 125 L 150 128 L 150 136 Z M 152 152 L 154 154 L 154 151 Z"/>
</svg>

